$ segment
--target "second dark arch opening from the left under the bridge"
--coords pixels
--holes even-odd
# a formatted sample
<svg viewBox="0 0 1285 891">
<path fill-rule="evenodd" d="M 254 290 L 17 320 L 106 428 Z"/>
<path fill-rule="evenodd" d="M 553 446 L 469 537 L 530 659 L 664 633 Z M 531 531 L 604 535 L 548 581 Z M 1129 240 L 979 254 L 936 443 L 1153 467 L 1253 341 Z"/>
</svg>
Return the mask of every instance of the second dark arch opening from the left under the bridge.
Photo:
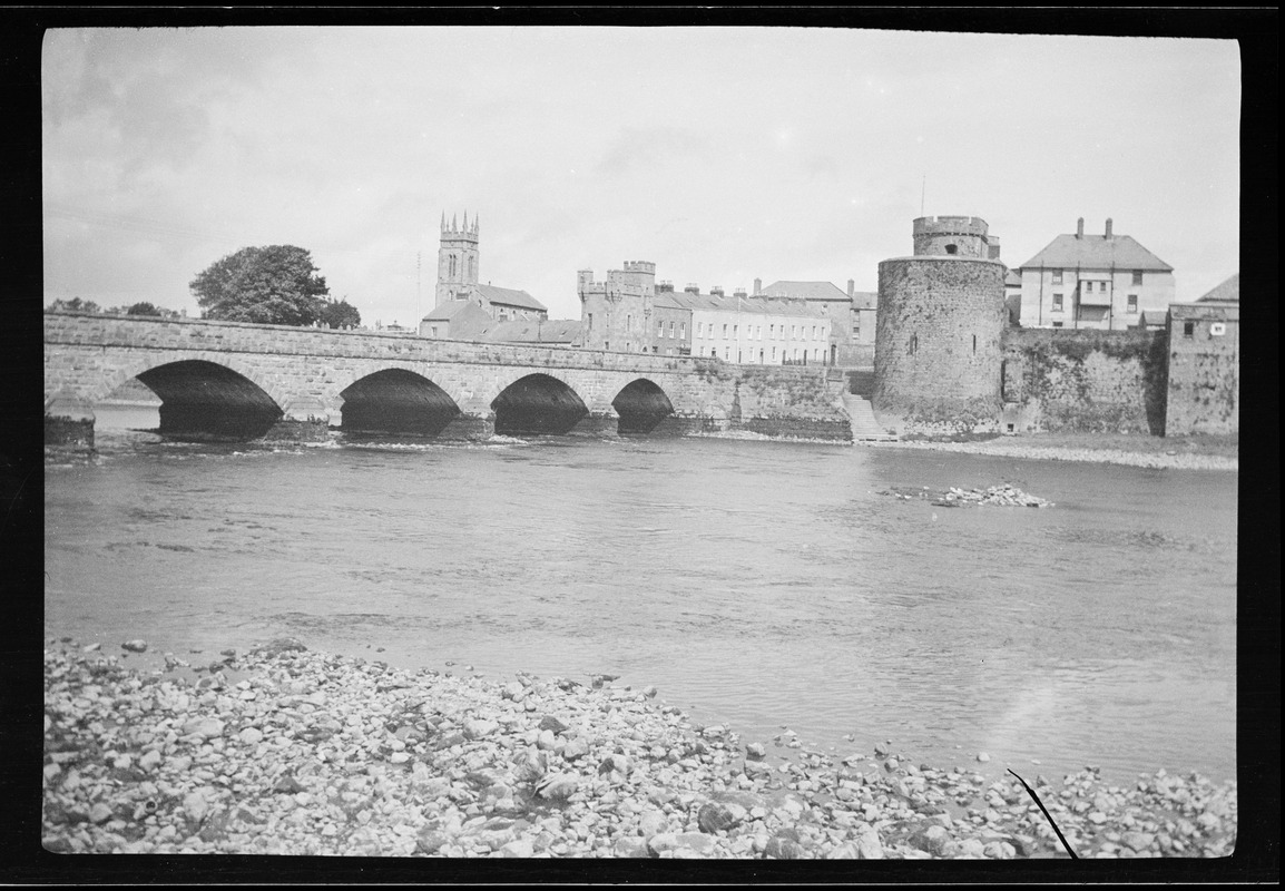
<svg viewBox="0 0 1285 891">
<path fill-rule="evenodd" d="M 386 368 L 339 392 L 341 429 L 350 433 L 437 436 L 460 406 L 442 387 L 405 368 Z"/>
</svg>

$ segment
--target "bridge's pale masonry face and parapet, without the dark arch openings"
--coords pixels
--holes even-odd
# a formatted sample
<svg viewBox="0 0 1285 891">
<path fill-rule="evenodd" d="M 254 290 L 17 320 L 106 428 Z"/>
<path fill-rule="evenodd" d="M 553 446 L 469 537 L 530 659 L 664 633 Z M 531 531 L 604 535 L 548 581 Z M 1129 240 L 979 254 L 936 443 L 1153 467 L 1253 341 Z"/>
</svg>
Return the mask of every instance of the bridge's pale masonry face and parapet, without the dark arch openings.
<svg viewBox="0 0 1285 891">
<path fill-rule="evenodd" d="M 370 374 L 403 369 L 441 387 L 464 415 L 487 422 L 501 392 L 538 373 L 573 390 L 591 418 L 614 419 L 612 401 L 645 378 L 660 387 L 677 419 L 702 429 L 797 417 L 807 422 L 808 437 L 825 422 L 833 438 L 851 440 L 838 390 L 828 384 L 824 368 L 741 368 L 687 356 L 188 319 L 46 312 L 44 323 L 46 405 L 53 399 L 59 405 L 78 402 L 84 410 L 153 368 L 203 360 L 261 387 L 284 420 L 339 413 L 346 388 Z M 488 435 L 484 423 L 478 429 Z"/>
</svg>

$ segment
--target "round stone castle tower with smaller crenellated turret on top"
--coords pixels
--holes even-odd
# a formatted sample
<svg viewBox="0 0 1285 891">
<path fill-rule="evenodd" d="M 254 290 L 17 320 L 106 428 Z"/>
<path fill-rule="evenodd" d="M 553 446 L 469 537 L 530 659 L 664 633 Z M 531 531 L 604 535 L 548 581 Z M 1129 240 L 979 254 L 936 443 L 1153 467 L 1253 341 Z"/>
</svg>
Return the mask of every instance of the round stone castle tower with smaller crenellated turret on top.
<svg viewBox="0 0 1285 891">
<path fill-rule="evenodd" d="M 997 432 L 1005 266 L 984 220 L 920 217 L 879 264 L 873 405 L 902 435 Z"/>
</svg>

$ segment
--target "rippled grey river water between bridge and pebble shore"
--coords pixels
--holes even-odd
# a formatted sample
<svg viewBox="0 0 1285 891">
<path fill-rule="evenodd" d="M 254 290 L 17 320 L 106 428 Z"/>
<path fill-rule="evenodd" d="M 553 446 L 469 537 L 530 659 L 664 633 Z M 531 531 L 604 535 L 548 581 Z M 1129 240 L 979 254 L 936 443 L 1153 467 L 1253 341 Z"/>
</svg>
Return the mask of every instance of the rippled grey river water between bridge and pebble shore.
<svg viewBox="0 0 1285 891">
<path fill-rule="evenodd" d="M 154 417 L 102 410 L 102 456 L 46 465 L 48 634 L 109 652 L 144 638 L 194 662 L 293 635 L 501 680 L 605 672 L 747 741 L 892 741 L 916 762 L 1027 777 L 1235 777 L 1235 473 L 723 438 L 272 450 L 125 429 Z M 1055 505 L 885 494 L 1000 482 Z"/>
</svg>

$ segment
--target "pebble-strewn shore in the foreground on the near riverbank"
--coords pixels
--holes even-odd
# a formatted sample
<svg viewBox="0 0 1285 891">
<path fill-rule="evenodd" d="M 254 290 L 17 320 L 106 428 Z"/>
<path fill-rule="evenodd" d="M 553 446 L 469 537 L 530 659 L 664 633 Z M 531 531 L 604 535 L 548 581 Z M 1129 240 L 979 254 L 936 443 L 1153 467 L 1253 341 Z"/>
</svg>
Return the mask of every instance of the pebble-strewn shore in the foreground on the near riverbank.
<svg viewBox="0 0 1285 891">
<path fill-rule="evenodd" d="M 46 639 L 42 845 L 384 858 L 1069 858 L 1011 774 L 743 742 L 616 678 L 394 670 L 292 639 L 161 656 Z M 132 660 L 131 660 L 132 661 Z M 204 662 L 203 665 L 200 662 Z M 988 760 L 977 753 L 978 761 Z M 1025 777 L 1081 858 L 1216 858 L 1236 784 Z"/>
</svg>

